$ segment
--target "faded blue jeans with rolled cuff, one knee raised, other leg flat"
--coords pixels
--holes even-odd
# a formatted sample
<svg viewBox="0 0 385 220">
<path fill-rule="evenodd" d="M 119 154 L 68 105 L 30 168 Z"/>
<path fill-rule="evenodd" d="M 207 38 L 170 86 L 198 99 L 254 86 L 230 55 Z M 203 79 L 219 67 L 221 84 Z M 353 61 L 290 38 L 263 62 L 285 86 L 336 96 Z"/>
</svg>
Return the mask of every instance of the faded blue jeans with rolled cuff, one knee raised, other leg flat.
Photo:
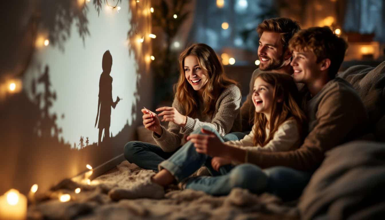
<svg viewBox="0 0 385 220">
<path fill-rule="evenodd" d="M 223 139 L 213 129 L 203 128 L 214 132 L 223 142 Z M 201 133 L 200 129 L 193 133 Z M 159 167 L 170 171 L 176 180 L 181 181 L 194 173 L 205 164 L 212 171 L 208 155 L 197 153 L 194 144 L 187 142 L 168 160 L 159 164 Z M 256 165 L 242 164 L 234 168 L 227 168 L 223 172 L 213 173 L 213 176 L 198 176 L 186 180 L 186 188 L 204 191 L 210 195 L 227 195 L 234 187 L 248 189 L 253 193 L 269 192 L 280 196 L 283 200 L 298 198 L 307 185 L 312 172 L 294 170 L 288 167 L 272 167 L 262 170 Z"/>
</svg>

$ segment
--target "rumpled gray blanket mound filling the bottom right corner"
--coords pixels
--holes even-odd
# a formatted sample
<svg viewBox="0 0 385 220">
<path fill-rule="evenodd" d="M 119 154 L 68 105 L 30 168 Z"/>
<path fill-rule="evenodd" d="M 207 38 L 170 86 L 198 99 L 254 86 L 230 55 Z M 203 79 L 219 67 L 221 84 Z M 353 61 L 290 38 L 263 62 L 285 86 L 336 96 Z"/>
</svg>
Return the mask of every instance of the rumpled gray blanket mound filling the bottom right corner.
<svg viewBox="0 0 385 220">
<path fill-rule="evenodd" d="M 385 143 L 355 141 L 326 153 L 298 208 L 303 219 L 384 219 Z"/>
</svg>

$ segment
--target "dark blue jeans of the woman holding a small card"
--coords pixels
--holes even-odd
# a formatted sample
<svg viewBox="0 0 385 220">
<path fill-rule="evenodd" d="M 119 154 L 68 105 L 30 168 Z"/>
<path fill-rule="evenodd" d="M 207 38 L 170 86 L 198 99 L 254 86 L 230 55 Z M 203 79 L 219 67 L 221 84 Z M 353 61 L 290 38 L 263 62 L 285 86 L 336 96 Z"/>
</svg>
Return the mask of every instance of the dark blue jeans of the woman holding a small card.
<svg viewBox="0 0 385 220">
<path fill-rule="evenodd" d="M 197 129 L 200 131 L 200 129 Z M 225 141 L 238 140 L 236 136 L 230 136 L 224 139 Z M 158 165 L 164 160 L 167 160 L 174 152 L 164 152 L 162 148 L 154 144 L 141 142 L 141 141 L 130 141 L 124 146 L 124 158 L 130 163 L 135 163 L 141 168 L 147 170 L 158 171 Z M 211 161 L 211 158 L 210 158 Z M 210 162 L 211 163 L 211 162 Z M 226 169 L 221 169 L 226 173 Z M 214 170 L 209 170 L 210 173 Z M 212 173 L 212 174 L 213 174 Z"/>
</svg>

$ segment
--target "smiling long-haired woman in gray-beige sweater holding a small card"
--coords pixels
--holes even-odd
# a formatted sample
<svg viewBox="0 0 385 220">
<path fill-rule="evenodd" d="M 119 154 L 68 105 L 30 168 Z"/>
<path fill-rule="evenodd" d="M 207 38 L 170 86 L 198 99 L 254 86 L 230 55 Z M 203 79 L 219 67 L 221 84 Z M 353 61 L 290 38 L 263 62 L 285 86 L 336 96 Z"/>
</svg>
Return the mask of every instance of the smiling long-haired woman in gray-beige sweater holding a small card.
<svg viewBox="0 0 385 220">
<path fill-rule="evenodd" d="M 232 128 L 240 130 L 241 91 L 225 76 L 214 50 L 206 44 L 193 44 L 179 56 L 179 67 L 172 107 L 156 109 L 159 114 L 142 109 L 143 124 L 159 146 L 140 141 L 124 146 L 125 158 L 141 168 L 157 170 L 159 163 L 201 126 L 213 128 L 221 136 Z M 158 117 L 169 121 L 168 129 L 161 126 Z"/>
</svg>

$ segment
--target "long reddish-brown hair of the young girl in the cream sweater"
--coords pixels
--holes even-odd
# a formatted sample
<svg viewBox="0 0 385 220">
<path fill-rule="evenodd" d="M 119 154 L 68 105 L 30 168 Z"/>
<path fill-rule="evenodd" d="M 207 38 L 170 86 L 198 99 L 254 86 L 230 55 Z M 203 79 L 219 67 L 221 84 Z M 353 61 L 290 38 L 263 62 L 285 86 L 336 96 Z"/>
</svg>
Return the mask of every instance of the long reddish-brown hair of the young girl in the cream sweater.
<svg viewBox="0 0 385 220">
<path fill-rule="evenodd" d="M 295 119 L 298 124 L 298 132 L 301 140 L 306 133 L 306 116 L 301 110 L 301 97 L 298 88 L 293 80 L 293 77 L 276 73 L 276 72 L 261 72 L 255 79 L 261 78 L 274 87 L 273 91 L 273 106 L 271 108 L 269 121 L 269 134 L 266 134 L 267 118 L 263 113 L 254 113 L 254 124 L 256 132 L 254 136 L 255 146 L 264 146 L 271 139 L 280 125 L 288 119 Z M 254 81 L 255 82 L 255 81 Z M 278 102 L 278 99 L 282 101 Z M 268 136 L 268 138 L 266 138 Z"/>
</svg>

